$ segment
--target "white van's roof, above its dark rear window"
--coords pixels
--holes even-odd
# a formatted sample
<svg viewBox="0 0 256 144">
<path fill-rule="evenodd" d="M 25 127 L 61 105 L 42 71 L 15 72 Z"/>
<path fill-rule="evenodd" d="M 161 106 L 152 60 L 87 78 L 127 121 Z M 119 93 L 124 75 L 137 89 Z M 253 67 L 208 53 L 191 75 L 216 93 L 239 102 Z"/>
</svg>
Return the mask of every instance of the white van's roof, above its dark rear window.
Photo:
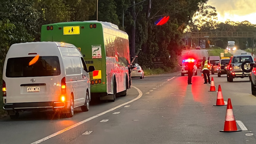
<svg viewBox="0 0 256 144">
<path fill-rule="evenodd" d="M 11 45 L 6 58 L 27 57 L 29 53 L 35 53 L 30 56 L 35 56 L 36 54 L 41 56 L 58 56 L 60 55 L 60 51 L 57 47 L 76 48 L 75 45 L 64 42 L 24 42 Z M 78 52 L 75 55 L 81 55 Z M 74 52 L 71 55 L 74 55 Z"/>
</svg>

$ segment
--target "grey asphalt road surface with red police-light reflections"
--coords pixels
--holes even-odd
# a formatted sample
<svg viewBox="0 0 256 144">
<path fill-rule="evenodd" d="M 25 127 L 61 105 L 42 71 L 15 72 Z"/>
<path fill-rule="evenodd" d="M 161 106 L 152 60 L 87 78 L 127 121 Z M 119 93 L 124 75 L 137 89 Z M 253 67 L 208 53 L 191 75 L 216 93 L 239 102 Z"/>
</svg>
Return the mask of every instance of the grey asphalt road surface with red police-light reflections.
<svg viewBox="0 0 256 144">
<path fill-rule="evenodd" d="M 199 57 L 207 54 L 205 50 L 189 52 L 198 53 Z M 118 97 L 116 102 L 94 101 L 88 112 L 76 109 L 73 118 L 27 112 L 18 120 L 0 119 L 0 143 L 256 143 L 256 97 L 251 94 L 249 78 L 230 83 L 225 76 L 211 75 L 216 89 L 221 85 L 224 100 L 231 99 L 236 121 L 248 130 L 243 127 L 242 132 L 219 132 L 224 128 L 227 107 L 213 106 L 217 92 L 209 92 L 210 84 L 203 84 L 199 71 L 198 76 L 192 77 L 192 85 L 187 85 L 187 76 L 177 72 L 134 78 L 134 87 L 127 91 L 127 96 Z M 125 104 L 132 99 L 135 100 Z M 239 125 L 237 128 L 241 129 Z"/>
</svg>

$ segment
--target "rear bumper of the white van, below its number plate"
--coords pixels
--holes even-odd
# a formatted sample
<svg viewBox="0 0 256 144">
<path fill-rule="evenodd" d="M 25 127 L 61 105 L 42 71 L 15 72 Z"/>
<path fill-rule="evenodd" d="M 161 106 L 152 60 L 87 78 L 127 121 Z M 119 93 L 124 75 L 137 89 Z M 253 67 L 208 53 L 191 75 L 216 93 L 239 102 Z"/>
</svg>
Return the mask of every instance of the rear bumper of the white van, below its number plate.
<svg viewBox="0 0 256 144">
<path fill-rule="evenodd" d="M 65 107 L 65 102 L 23 102 L 4 104 L 4 110 L 53 109 Z"/>
</svg>

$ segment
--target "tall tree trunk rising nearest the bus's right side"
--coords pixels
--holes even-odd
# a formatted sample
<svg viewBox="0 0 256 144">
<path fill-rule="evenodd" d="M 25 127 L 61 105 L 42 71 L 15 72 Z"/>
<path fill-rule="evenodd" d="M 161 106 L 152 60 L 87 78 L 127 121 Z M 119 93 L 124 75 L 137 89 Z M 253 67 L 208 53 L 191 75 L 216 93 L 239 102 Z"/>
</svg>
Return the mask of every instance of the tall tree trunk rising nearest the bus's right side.
<svg viewBox="0 0 256 144">
<path fill-rule="evenodd" d="M 132 0 L 132 20 L 133 20 L 133 26 L 132 26 L 132 45 L 131 45 L 131 51 L 130 55 L 131 57 L 135 57 L 135 36 L 136 36 L 136 12 L 135 12 L 135 0 Z"/>
</svg>

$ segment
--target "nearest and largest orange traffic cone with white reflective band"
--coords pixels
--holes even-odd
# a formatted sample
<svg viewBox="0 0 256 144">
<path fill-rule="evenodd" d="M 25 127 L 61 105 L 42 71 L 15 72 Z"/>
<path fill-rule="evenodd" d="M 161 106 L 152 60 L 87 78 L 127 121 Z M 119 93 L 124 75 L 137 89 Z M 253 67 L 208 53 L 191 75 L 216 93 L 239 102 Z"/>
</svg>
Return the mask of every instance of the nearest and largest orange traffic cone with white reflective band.
<svg viewBox="0 0 256 144">
<path fill-rule="evenodd" d="M 233 107 L 231 104 L 231 100 L 227 100 L 227 111 L 225 117 L 224 130 L 220 132 L 241 132 L 242 130 L 238 130 L 236 127 L 236 120 L 233 114 Z"/>
</svg>

